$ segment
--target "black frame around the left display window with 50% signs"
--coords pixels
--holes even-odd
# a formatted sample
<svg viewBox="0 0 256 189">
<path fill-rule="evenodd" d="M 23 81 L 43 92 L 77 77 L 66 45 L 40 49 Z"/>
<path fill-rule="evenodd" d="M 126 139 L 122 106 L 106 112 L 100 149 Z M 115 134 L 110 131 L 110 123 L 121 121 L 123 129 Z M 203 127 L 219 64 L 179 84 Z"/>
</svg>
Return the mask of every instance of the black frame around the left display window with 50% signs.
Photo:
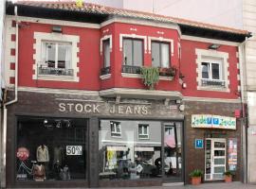
<svg viewBox="0 0 256 189">
<path fill-rule="evenodd" d="M 16 149 L 17 149 L 17 129 L 18 129 L 18 118 L 19 117 L 33 117 L 33 118 L 64 118 L 64 119 L 82 119 L 84 120 L 84 123 L 86 123 L 86 132 L 87 132 L 87 136 L 89 136 L 89 130 L 90 130 L 90 118 L 89 117 L 81 117 L 81 116 L 64 116 L 64 115 L 50 115 L 50 114 L 27 114 L 27 113 L 15 113 L 14 114 L 14 140 L 13 140 L 13 151 L 12 154 L 15 156 L 15 158 L 13 158 L 12 164 L 14 165 L 14 172 L 12 175 L 12 178 L 10 180 L 10 184 L 15 186 L 15 187 L 88 187 L 89 186 L 89 161 L 88 157 L 89 157 L 89 139 L 87 138 L 85 141 L 85 147 L 87 149 L 87 153 L 85 155 L 85 178 L 84 180 L 44 180 L 44 181 L 35 181 L 35 180 L 17 180 L 16 176 L 17 176 L 17 169 L 16 169 L 16 164 L 17 164 L 17 158 L 16 158 Z"/>
</svg>

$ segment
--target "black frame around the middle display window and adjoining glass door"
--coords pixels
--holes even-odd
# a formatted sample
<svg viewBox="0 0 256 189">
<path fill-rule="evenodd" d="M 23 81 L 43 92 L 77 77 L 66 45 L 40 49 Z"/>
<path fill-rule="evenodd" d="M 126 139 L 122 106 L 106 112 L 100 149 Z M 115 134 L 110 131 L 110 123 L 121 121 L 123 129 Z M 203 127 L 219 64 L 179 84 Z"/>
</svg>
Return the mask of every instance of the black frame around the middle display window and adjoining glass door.
<svg viewBox="0 0 256 189">
<path fill-rule="evenodd" d="M 100 180 L 99 174 L 97 175 L 97 179 L 99 181 L 98 186 L 105 187 L 105 186 L 113 186 L 113 187 L 126 187 L 126 186 L 157 186 L 157 185 L 162 185 L 163 183 L 175 183 L 175 182 L 183 182 L 185 184 L 185 144 L 184 144 L 184 139 L 185 139 L 185 117 L 184 119 L 179 119 L 179 118 L 160 118 L 160 117 L 152 117 L 152 118 L 143 118 L 143 117 L 132 117 L 132 116 L 99 116 L 98 117 L 98 141 L 99 141 L 99 126 L 101 125 L 101 120 L 141 120 L 141 121 L 159 121 L 161 123 L 161 154 L 164 154 L 164 127 L 166 123 L 170 122 L 180 122 L 182 124 L 181 127 L 181 151 L 182 151 L 182 173 L 181 173 L 181 181 L 172 181 L 168 180 L 167 177 L 165 177 L 164 170 L 162 169 L 162 177 L 161 178 L 156 178 L 156 179 L 139 179 L 139 180 Z M 99 144 L 98 144 L 99 147 Z M 99 150 L 98 150 L 99 153 Z M 98 154 L 99 156 L 99 154 Z M 164 156 L 161 155 L 161 163 L 164 163 Z M 99 163 L 98 163 L 99 164 Z M 99 168 L 99 167 L 97 167 Z M 156 184 L 155 184 L 156 183 Z"/>
</svg>

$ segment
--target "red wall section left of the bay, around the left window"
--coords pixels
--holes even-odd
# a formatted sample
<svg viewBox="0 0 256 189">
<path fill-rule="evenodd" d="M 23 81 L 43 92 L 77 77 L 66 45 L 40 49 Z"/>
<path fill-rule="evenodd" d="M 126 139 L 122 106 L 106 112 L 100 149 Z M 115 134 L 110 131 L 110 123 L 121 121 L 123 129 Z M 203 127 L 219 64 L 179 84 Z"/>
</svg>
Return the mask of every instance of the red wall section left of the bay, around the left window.
<svg viewBox="0 0 256 189">
<path fill-rule="evenodd" d="M 63 26 L 63 34 L 80 36 L 78 47 L 80 77 L 79 82 L 33 80 L 33 43 L 34 32 L 51 32 L 50 25 L 29 23 L 19 29 L 19 86 L 65 88 L 81 90 L 100 89 L 100 30 Z"/>
</svg>

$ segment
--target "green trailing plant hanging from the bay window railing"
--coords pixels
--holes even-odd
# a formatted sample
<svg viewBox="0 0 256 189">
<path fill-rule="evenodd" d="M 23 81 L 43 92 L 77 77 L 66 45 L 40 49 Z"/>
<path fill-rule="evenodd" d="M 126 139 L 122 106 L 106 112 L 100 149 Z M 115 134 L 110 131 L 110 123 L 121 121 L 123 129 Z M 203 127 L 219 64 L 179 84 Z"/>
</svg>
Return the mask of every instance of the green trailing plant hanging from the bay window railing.
<svg viewBox="0 0 256 189">
<path fill-rule="evenodd" d="M 141 76 L 143 78 L 144 85 L 148 86 L 150 90 L 155 89 L 155 84 L 159 80 L 159 70 L 155 67 L 142 67 Z"/>
</svg>

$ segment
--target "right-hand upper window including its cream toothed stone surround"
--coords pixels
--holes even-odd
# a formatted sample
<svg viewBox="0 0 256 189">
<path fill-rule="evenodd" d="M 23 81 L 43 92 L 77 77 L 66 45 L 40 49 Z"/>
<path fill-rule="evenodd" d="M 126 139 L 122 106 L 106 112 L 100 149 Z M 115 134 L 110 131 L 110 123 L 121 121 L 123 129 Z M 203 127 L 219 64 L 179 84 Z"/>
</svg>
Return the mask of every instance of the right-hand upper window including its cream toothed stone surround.
<svg viewBox="0 0 256 189">
<path fill-rule="evenodd" d="M 196 49 L 198 90 L 229 92 L 229 54 Z"/>
</svg>

